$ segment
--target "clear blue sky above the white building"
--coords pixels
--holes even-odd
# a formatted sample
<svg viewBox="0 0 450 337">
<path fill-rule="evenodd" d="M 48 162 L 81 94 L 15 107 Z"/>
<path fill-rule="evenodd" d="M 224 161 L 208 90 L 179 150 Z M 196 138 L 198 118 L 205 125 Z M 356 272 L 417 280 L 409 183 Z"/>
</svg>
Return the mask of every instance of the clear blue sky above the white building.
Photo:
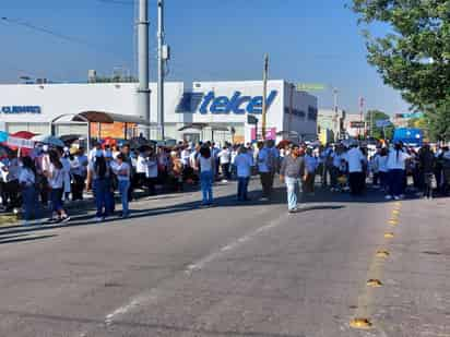
<svg viewBox="0 0 450 337">
<path fill-rule="evenodd" d="M 150 1 L 151 77 L 156 77 L 156 0 Z M 262 77 L 323 84 L 319 107 L 387 113 L 407 110 L 400 94 L 367 64 L 351 0 L 166 0 L 168 81 L 244 81 Z M 137 72 L 134 0 L 1 0 L 0 83 L 21 75 L 85 82 L 87 70 Z M 16 24 L 20 22 L 22 24 Z M 29 28 L 23 23 L 50 31 Z M 377 33 L 377 32 L 376 32 Z M 380 32 L 378 32 L 380 33 Z M 381 32 L 382 33 L 382 32 Z M 62 36 L 62 38 L 61 38 Z"/>
</svg>

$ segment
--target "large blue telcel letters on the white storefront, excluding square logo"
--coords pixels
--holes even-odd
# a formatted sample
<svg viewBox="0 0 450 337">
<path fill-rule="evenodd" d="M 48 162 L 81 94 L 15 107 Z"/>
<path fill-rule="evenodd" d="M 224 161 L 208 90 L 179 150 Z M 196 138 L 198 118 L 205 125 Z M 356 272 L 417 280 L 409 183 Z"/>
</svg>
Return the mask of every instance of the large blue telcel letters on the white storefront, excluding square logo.
<svg viewBox="0 0 450 337">
<path fill-rule="evenodd" d="M 275 100 L 277 91 L 272 91 L 265 103 L 269 108 Z M 262 113 L 262 96 L 242 96 L 241 92 L 235 92 L 232 97 L 217 96 L 209 92 L 202 99 L 199 108 L 200 113 Z"/>
</svg>

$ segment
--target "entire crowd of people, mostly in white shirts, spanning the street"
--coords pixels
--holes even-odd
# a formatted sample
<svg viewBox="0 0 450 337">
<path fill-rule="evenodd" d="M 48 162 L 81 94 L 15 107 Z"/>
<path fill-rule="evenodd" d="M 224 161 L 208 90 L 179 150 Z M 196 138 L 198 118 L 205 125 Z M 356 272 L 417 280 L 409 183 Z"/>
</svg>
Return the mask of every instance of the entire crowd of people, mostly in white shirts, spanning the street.
<svg viewBox="0 0 450 337">
<path fill-rule="evenodd" d="M 374 151 L 357 141 L 327 146 L 180 142 L 171 148 L 129 144 L 94 144 L 90 153 L 83 147 L 51 147 L 37 144 L 27 156 L 8 153 L 0 160 L 0 195 L 4 210 L 23 208 L 25 225 L 39 219 L 44 209 L 51 212 L 48 222 L 67 222 L 68 202 L 82 201 L 92 191 L 96 220 L 116 214 L 115 193 L 120 195 L 120 217 L 130 215 L 129 202 L 134 191 L 149 195 L 159 191 L 181 192 L 186 185 L 200 185 L 201 205 L 214 203 L 213 185 L 217 180 L 237 180 L 237 202 L 249 200 L 248 185 L 259 174 L 262 200 L 273 196 L 274 178 L 286 184 L 288 212 L 297 210 L 297 193 L 313 194 L 316 183 L 331 192 L 365 193 L 371 180 L 387 200 L 404 197 L 407 179 L 411 188 L 424 197 L 447 195 L 450 185 L 450 151 L 433 151 L 428 144 L 416 149 L 401 143 L 384 144 Z M 370 179 L 369 179 L 370 178 Z"/>
</svg>

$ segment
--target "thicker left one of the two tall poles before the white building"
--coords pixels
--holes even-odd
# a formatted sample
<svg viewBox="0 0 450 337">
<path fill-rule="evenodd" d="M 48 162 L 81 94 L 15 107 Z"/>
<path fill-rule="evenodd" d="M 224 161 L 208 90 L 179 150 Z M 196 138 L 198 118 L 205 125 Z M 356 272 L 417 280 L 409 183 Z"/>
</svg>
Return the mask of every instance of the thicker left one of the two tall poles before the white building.
<svg viewBox="0 0 450 337">
<path fill-rule="evenodd" d="M 145 118 L 146 139 L 150 140 L 150 88 L 149 88 L 149 0 L 139 0 L 138 21 L 138 115 Z"/>
</svg>

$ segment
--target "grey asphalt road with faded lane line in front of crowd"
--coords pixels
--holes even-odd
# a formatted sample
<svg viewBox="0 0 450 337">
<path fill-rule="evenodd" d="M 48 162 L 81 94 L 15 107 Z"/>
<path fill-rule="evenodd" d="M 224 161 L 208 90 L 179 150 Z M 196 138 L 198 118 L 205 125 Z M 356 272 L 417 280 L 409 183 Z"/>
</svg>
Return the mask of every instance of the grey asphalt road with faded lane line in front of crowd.
<svg viewBox="0 0 450 337">
<path fill-rule="evenodd" d="M 214 208 L 186 193 L 2 227 L 0 337 L 450 336 L 449 200 L 322 192 L 288 215 L 283 189 L 236 204 L 235 188 Z"/>
</svg>

